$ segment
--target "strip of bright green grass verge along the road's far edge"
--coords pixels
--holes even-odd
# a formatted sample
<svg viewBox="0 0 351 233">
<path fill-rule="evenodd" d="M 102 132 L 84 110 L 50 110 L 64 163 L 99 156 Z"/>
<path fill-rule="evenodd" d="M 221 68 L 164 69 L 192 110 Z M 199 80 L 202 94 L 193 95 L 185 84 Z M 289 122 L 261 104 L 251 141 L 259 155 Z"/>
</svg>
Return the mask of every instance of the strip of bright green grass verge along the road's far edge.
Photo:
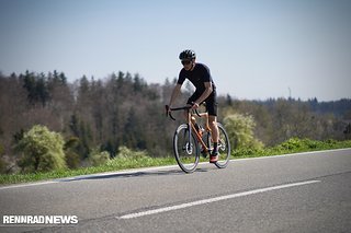
<svg viewBox="0 0 351 233">
<path fill-rule="evenodd" d="M 331 150 L 331 149 L 341 149 L 341 148 L 351 148 L 351 140 L 315 141 L 309 139 L 292 138 L 272 148 L 238 149 L 233 152 L 231 159 L 270 156 L 270 155 L 278 155 L 278 154 Z M 37 172 L 37 173 L 31 173 L 31 174 L 8 174 L 8 175 L 1 174 L 0 184 L 8 185 L 8 184 L 18 184 L 18 183 L 48 180 L 48 179 L 88 175 L 88 174 L 94 174 L 94 173 L 116 172 L 116 171 L 128 170 L 128 168 L 163 166 L 163 165 L 172 165 L 172 164 L 177 164 L 173 156 L 150 158 L 147 155 L 146 152 L 134 152 L 124 148 L 122 153 L 120 153 L 117 158 L 112 159 L 99 166 L 81 167 L 77 170 L 63 170 L 63 171 L 54 171 L 54 172 L 46 172 L 46 173 Z"/>
</svg>

